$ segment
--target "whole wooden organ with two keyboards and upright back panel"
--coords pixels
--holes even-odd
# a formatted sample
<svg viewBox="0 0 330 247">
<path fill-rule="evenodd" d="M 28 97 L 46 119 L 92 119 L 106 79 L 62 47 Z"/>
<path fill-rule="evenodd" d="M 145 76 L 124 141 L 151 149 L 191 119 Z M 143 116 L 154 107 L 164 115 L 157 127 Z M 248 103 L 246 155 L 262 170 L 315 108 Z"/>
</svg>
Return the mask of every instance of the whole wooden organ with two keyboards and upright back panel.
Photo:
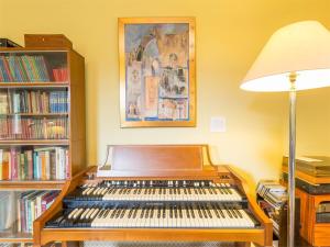
<svg viewBox="0 0 330 247">
<path fill-rule="evenodd" d="M 116 145 L 107 176 L 91 178 L 96 170 L 68 181 L 34 222 L 34 246 L 55 240 L 272 246 L 272 223 L 244 179 L 230 166 L 213 166 L 207 145 Z"/>
</svg>

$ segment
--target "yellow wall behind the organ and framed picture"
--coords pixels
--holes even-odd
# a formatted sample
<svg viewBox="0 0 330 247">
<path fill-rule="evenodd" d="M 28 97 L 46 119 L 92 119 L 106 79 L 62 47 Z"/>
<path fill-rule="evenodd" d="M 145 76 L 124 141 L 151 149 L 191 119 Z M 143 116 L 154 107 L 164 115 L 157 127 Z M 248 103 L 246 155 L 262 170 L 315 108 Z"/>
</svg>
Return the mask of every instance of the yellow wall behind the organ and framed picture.
<svg viewBox="0 0 330 247">
<path fill-rule="evenodd" d="M 328 0 L 0 0 L 0 9 L 1 36 L 23 44 L 24 33 L 63 33 L 85 56 L 89 164 L 102 161 L 107 144 L 208 143 L 215 162 L 253 179 L 278 176 L 287 96 L 244 92 L 240 80 L 278 27 L 306 19 L 330 26 Z M 197 127 L 122 130 L 117 19 L 170 15 L 196 16 Z M 227 117 L 227 133 L 209 132 L 212 115 Z"/>
</svg>

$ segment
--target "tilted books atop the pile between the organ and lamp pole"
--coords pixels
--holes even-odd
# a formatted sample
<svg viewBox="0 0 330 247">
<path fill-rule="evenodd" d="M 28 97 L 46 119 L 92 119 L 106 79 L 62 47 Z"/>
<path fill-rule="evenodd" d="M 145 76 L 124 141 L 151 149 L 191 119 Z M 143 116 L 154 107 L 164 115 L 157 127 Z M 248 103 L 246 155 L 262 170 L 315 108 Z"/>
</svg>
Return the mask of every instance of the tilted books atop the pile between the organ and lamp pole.
<svg viewBox="0 0 330 247">
<path fill-rule="evenodd" d="M 282 209 L 287 202 L 286 188 L 274 180 L 261 180 L 257 183 L 256 192 L 275 209 Z"/>
</svg>

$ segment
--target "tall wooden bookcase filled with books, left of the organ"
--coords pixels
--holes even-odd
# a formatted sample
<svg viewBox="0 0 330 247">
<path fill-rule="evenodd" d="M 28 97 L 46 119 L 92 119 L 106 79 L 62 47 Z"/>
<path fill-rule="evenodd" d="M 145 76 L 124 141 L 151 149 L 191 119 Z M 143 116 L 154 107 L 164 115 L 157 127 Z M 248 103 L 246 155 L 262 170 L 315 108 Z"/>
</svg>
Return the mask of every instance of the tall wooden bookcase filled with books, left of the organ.
<svg viewBox="0 0 330 247">
<path fill-rule="evenodd" d="M 0 245 L 30 246 L 33 220 L 85 168 L 85 123 L 82 56 L 0 48 Z"/>
</svg>

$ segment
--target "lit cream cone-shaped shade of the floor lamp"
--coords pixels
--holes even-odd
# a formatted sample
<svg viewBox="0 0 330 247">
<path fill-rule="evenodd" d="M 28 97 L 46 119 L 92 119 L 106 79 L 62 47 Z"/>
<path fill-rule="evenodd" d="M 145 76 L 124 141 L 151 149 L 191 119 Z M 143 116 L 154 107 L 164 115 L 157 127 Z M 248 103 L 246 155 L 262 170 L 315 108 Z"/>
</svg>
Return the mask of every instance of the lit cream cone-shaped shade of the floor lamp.
<svg viewBox="0 0 330 247">
<path fill-rule="evenodd" d="M 330 32 L 317 21 L 302 21 L 276 31 L 248 71 L 241 89 L 289 91 L 330 86 Z"/>
</svg>

